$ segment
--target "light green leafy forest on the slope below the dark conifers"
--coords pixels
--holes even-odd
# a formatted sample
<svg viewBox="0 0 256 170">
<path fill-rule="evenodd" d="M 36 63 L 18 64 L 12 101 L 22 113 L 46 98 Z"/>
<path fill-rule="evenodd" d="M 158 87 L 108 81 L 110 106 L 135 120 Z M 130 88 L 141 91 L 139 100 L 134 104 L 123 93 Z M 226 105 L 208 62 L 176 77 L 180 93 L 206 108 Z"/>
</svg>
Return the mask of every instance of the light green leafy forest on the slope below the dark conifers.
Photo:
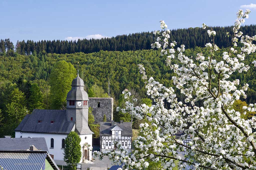
<svg viewBox="0 0 256 170">
<path fill-rule="evenodd" d="M 239 47 L 237 47 L 239 50 Z M 197 53 L 207 54 L 206 48 L 196 47 L 185 50 L 185 55 L 196 56 Z M 222 53 L 227 48 L 216 51 L 215 58 L 220 60 Z M 247 58 L 251 63 L 255 60 L 256 54 L 252 53 Z M 74 53 L 74 54 L 36 54 L 12 55 L 0 53 L 0 101 L 2 85 L 10 82 L 19 86 L 23 80 L 37 83 L 41 91 L 45 93 L 48 88 L 49 75 L 54 65 L 65 60 L 70 62 L 76 70 L 79 68 L 79 75 L 84 80 L 86 88 L 97 84 L 105 91 L 108 91 L 110 81 L 110 92 L 119 98 L 125 88 L 134 89 L 145 95 L 145 84 L 141 80 L 137 64 L 143 64 L 148 77 L 152 76 L 156 81 L 167 87 L 173 86 L 171 77 L 174 75 L 166 66 L 166 57 L 160 56 L 159 50 L 137 50 L 137 51 L 99 51 L 97 53 Z M 79 63 L 78 63 L 79 62 Z M 247 63 L 247 64 L 248 64 Z M 239 79 L 240 85 L 248 83 L 251 91 L 248 91 L 247 102 L 255 103 L 256 96 L 256 69 L 252 67 L 248 72 L 233 74 L 232 80 Z M 5 83 L 4 83 L 5 82 Z"/>
</svg>

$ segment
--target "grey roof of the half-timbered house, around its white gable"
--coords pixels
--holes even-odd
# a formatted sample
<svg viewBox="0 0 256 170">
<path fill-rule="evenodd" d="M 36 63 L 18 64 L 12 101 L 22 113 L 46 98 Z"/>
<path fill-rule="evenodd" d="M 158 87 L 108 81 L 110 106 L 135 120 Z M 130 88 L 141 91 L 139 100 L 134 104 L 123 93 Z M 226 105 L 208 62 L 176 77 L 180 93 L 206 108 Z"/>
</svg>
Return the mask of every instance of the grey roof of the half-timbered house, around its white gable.
<svg viewBox="0 0 256 170">
<path fill-rule="evenodd" d="M 115 122 L 117 126 L 119 126 L 122 130 L 122 136 L 132 136 L 132 122 Z M 100 122 L 100 135 L 101 136 L 111 136 L 111 122 Z"/>
</svg>

